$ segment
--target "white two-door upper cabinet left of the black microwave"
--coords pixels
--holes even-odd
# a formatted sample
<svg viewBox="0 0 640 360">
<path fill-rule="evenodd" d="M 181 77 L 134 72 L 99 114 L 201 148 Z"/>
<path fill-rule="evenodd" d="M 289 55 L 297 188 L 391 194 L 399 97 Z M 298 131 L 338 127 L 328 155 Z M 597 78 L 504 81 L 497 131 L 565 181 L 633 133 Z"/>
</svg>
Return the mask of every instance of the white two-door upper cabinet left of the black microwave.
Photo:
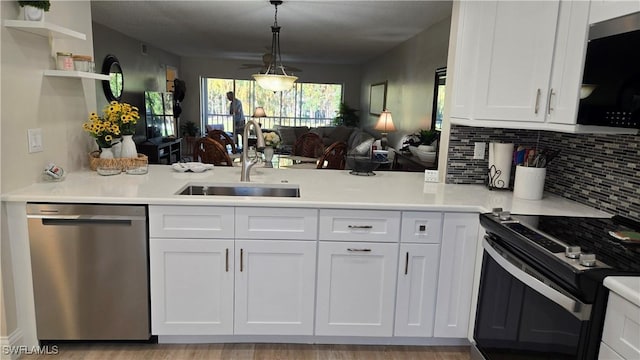
<svg viewBox="0 0 640 360">
<path fill-rule="evenodd" d="M 631 133 L 576 124 L 587 1 L 462 1 L 451 123 L 562 132 Z"/>
</svg>

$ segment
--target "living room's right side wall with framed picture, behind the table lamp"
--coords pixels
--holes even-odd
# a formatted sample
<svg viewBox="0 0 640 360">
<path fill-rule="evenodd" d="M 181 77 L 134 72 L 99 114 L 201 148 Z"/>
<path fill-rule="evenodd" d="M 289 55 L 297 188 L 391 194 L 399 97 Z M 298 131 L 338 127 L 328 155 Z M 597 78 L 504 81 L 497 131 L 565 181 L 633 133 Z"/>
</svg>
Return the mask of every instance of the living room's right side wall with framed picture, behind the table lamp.
<svg viewBox="0 0 640 360">
<path fill-rule="evenodd" d="M 371 84 L 388 82 L 386 107 L 398 129 L 388 135 L 390 146 L 397 146 L 403 134 L 431 127 L 435 70 L 447 66 L 450 25 L 448 17 L 365 66 L 360 93 L 363 114 L 369 113 Z M 372 115 L 363 119 L 364 127 L 373 127 L 377 120 Z"/>
</svg>

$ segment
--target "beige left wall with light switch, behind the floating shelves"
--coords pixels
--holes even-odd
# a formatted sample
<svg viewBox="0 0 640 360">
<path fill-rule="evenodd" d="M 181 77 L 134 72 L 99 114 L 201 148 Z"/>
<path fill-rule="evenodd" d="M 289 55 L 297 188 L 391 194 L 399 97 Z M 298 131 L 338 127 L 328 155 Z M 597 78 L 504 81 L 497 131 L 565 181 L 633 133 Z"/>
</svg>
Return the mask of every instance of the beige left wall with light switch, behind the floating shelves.
<svg viewBox="0 0 640 360">
<path fill-rule="evenodd" d="M 18 19 L 17 1 L 0 1 L 0 17 Z M 85 33 L 87 40 L 55 40 L 53 49 L 46 37 L 4 26 L 0 28 L 0 189 L 2 193 L 40 180 L 44 166 L 53 161 L 73 171 L 88 164 L 91 138 L 81 124 L 95 110 L 95 80 L 43 77 L 54 68 L 52 51 L 93 55 L 89 1 L 53 0 L 45 14 L 47 22 Z M 27 129 L 41 128 L 44 151 L 30 154 Z M 15 300 L 10 265 L 6 214 L 2 212 L 2 308 L 0 327 L 7 336 L 16 328 Z M 5 316 L 6 315 L 6 316 Z"/>
</svg>

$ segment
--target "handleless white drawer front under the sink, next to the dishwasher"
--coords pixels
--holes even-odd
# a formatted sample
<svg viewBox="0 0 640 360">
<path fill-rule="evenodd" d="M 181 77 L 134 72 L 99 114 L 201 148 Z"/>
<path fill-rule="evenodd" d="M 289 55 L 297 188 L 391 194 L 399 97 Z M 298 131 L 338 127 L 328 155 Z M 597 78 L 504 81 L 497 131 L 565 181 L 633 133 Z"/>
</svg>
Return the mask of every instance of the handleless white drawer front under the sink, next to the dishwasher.
<svg viewBox="0 0 640 360">
<path fill-rule="evenodd" d="M 159 238 L 233 239 L 232 207 L 149 206 L 149 235 Z"/>
</svg>

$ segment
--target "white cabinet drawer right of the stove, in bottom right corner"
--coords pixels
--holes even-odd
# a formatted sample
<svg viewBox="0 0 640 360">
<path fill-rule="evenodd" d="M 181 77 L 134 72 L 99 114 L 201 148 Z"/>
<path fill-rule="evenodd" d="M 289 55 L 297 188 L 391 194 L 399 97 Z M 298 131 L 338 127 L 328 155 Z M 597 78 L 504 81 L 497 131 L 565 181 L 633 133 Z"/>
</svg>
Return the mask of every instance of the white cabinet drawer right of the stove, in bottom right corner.
<svg viewBox="0 0 640 360">
<path fill-rule="evenodd" d="M 625 359 L 640 359 L 640 308 L 610 293 L 602 341 Z"/>
</svg>

